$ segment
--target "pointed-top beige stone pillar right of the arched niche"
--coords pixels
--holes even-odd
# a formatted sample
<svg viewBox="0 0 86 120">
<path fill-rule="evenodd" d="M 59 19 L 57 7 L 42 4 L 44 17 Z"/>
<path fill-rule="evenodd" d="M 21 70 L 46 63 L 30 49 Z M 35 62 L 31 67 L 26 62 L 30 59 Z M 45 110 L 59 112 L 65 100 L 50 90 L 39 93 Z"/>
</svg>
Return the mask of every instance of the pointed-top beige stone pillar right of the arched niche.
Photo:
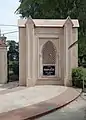
<svg viewBox="0 0 86 120">
<path fill-rule="evenodd" d="M 72 21 L 68 17 L 64 24 L 64 85 L 71 86 L 71 50 L 68 50 L 72 41 Z"/>
</svg>

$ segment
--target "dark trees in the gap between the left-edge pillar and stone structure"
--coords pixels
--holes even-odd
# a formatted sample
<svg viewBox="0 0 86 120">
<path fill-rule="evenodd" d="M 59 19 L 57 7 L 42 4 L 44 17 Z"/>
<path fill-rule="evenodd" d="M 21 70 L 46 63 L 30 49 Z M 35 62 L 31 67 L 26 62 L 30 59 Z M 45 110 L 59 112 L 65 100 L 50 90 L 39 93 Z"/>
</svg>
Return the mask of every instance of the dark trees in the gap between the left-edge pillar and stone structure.
<svg viewBox="0 0 86 120">
<path fill-rule="evenodd" d="M 12 75 L 19 76 L 19 43 L 15 41 L 7 41 L 7 62 L 8 62 L 8 82 L 12 79 Z M 13 73 L 10 73 L 13 71 Z"/>
</svg>

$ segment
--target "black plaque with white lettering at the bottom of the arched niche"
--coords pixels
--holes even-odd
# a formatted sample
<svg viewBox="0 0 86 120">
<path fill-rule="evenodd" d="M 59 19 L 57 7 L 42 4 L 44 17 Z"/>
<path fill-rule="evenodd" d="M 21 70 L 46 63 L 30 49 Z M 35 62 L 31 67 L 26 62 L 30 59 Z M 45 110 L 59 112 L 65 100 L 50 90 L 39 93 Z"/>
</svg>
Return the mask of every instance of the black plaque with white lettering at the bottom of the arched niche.
<svg viewBox="0 0 86 120">
<path fill-rule="evenodd" d="M 46 75 L 46 76 L 55 75 L 55 66 L 54 65 L 43 66 L 43 75 Z"/>
</svg>

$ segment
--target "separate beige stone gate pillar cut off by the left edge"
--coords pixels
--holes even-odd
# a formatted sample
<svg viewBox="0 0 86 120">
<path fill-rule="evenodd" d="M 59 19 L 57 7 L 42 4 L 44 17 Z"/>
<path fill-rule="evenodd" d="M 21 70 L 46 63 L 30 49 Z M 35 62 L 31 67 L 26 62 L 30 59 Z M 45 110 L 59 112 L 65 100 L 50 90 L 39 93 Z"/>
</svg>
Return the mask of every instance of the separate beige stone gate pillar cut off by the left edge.
<svg viewBox="0 0 86 120">
<path fill-rule="evenodd" d="M 0 84 L 7 83 L 7 47 L 6 37 L 0 37 Z"/>
</svg>

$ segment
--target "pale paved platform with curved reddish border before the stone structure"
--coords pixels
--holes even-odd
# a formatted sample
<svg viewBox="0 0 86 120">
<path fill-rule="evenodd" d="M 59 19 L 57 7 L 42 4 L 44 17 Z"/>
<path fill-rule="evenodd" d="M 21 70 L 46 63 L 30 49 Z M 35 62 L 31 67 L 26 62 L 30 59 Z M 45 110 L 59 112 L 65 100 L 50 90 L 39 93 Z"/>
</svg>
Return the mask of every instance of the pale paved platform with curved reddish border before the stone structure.
<svg viewBox="0 0 86 120">
<path fill-rule="evenodd" d="M 0 120 L 31 119 L 64 106 L 79 94 L 80 91 L 64 86 L 0 85 Z"/>
</svg>

